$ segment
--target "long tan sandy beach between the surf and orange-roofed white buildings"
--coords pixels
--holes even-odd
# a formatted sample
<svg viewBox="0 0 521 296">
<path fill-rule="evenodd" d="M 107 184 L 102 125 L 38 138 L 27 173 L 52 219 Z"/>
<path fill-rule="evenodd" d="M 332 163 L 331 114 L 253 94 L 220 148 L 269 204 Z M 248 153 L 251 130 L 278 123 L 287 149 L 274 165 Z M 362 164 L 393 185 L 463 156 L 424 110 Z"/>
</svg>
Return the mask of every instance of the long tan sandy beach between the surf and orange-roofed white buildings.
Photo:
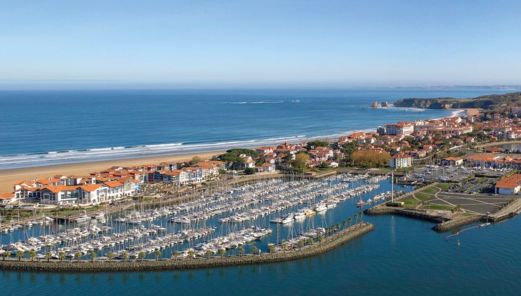
<svg viewBox="0 0 521 296">
<path fill-rule="evenodd" d="M 13 183 L 18 180 L 31 180 L 54 176 L 56 174 L 65 175 L 85 175 L 90 172 L 107 169 L 115 165 L 129 167 L 132 165 L 154 165 L 167 161 L 189 161 L 194 156 L 202 159 L 209 159 L 224 153 L 224 151 L 201 152 L 194 154 L 177 154 L 168 156 L 152 156 L 143 158 L 115 159 L 112 161 L 93 161 L 90 163 L 68 163 L 65 165 L 46 165 L 42 167 L 23 167 L 19 169 L 0 170 L 0 192 L 13 192 Z"/>
</svg>

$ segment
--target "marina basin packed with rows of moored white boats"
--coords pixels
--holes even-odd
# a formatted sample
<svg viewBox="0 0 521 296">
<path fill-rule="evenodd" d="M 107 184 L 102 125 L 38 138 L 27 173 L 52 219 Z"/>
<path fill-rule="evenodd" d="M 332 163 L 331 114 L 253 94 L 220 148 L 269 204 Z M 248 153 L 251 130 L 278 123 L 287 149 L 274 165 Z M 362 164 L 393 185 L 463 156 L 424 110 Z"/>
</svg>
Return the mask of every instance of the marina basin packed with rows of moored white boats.
<svg viewBox="0 0 521 296">
<path fill-rule="evenodd" d="M 22 225 L 1 235 L 0 252 L 38 260 L 103 261 L 239 254 L 244 247 L 263 253 L 297 249 L 338 222 L 331 213 L 338 205 L 354 197 L 383 197 L 381 184 L 388 188 L 388 182 L 386 176 L 364 174 L 266 179 L 161 208 L 135 204 L 119 214 L 83 213 L 68 224 L 43 217 L 45 224 Z"/>
</svg>

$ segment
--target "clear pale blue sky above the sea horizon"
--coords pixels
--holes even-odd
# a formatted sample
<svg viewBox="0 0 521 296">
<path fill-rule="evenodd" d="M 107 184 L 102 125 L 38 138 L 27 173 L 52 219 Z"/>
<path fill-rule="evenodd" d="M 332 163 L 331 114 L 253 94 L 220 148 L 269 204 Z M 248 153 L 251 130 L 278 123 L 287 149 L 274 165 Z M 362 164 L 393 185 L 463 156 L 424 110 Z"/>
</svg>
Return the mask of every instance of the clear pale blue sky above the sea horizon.
<svg viewBox="0 0 521 296">
<path fill-rule="evenodd" d="M 521 1 L 1 1 L 0 88 L 521 84 Z"/>
</svg>

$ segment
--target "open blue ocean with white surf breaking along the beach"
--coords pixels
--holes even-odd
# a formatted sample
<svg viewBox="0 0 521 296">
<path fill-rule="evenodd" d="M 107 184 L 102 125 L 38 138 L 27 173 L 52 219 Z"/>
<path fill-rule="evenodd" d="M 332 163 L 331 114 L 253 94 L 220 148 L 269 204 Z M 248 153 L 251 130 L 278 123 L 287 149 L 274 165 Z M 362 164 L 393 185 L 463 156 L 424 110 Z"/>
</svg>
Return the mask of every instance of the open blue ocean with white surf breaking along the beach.
<svg viewBox="0 0 521 296">
<path fill-rule="evenodd" d="M 370 108 L 492 90 L 0 91 L 0 170 L 338 138 L 457 110 Z M 498 92 L 498 91 L 494 91 Z M 504 91 L 503 91 L 504 92 Z"/>
</svg>

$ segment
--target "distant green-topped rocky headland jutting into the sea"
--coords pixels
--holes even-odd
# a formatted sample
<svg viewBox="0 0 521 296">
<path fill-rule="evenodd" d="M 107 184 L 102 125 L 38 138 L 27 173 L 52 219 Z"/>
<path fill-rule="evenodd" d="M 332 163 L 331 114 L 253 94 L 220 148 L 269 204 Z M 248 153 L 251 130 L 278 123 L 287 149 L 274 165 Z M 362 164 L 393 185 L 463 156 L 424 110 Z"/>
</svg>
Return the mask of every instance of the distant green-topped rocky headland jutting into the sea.
<svg viewBox="0 0 521 296">
<path fill-rule="evenodd" d="M 481 97 L 468 99 L 455 99 L 450 97 L 420 99 L 408 98 L 395 101 L 395 107 L 422 108 L 422 109 L 458 109 L 458 108 L 481 108 L 493 109 L 505 106 L 521 105 L 521 92 L 508 94 L 487 94 Z"/>
</svg>

